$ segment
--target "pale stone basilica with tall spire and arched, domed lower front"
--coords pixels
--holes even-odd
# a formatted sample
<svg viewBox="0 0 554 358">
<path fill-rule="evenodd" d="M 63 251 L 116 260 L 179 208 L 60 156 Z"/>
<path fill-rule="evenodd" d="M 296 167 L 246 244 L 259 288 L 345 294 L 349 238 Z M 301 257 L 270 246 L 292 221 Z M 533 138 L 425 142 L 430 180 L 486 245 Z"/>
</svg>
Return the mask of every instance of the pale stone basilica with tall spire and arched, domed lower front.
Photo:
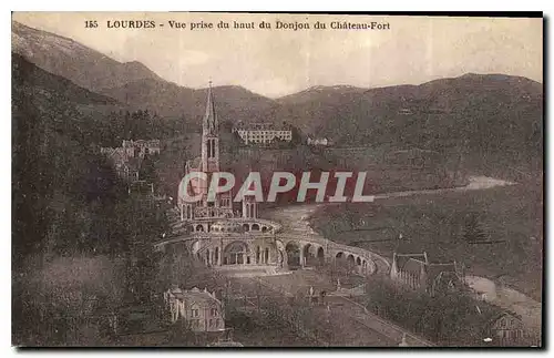
<svg viewBox="0 0 554 358">
<path fill-rule="evenodd" d="M 271 273 L 286 265 L 285 247 L 275 239 L 280 225 L 258 217 L 254 196 L 234 203 L 229 191 L 208 198 L 206 183 L 219 172 L 219 123 L 212 86 L 202 125 L 201 156 L 185 164 L 185 176 L 194 172 L 205 173 L 208 181 L 183 180 L 175 226 L 179 235 L 187 236 L 189 253 L 215 268 Z M 186 201 L 187 195 L 199 201 Z"/>
</svg>

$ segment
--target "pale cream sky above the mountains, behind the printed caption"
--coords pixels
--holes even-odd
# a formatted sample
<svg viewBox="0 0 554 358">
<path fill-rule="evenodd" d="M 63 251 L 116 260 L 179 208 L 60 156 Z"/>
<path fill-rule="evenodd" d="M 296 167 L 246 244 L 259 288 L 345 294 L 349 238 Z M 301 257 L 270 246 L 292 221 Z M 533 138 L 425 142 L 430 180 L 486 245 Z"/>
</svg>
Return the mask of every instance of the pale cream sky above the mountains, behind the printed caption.
<svg viewBox="0 0 554 358">
<path fill-rule="evenodd" d="M 314 85 L 420 84 L 469 72 L 543 78 L 542 19 L 201 12 L 14 12 L 12 18 L 117 61 L 140 61 L 179 85 L 205 88 L 211 80 L 270 98 Z M 99 27 L 85 28 L 86 20 Z M 109 29 L 107 21 L 116 20 L 150 20 L 156 28 Z M 186 28 L 172 29 L 168 21 Z M 191 30 L 201 21 L 214 28 Z M 219 21 L 229 29 L 217 29 Z M 254 22 L 256 29 L 234 29 L 234 21 Z M 257 28 L 261 21 L 271 29 Z M 276 29 L 277 21 L 307 22 L 310 29 Z M 327 28 L 314 29 L 316 21 Z M 330 29 L 334 21 L 387 29 Z"/>
</svg>

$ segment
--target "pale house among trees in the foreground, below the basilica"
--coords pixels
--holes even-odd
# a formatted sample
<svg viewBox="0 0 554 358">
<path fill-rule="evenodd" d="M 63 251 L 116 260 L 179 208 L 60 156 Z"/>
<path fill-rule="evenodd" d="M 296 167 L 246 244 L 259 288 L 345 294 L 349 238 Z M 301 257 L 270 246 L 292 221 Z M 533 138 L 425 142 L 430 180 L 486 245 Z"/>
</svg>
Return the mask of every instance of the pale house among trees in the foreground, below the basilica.
<svg viewBox="0 0 554 358">
<path fill-rule="evenodd" d="M 225 330 L 225 310 L 215 293 L 174 287 L 164 293 L 164 301 L 172 324 L 184 319 L 193 331 Z"/>
</svg>

